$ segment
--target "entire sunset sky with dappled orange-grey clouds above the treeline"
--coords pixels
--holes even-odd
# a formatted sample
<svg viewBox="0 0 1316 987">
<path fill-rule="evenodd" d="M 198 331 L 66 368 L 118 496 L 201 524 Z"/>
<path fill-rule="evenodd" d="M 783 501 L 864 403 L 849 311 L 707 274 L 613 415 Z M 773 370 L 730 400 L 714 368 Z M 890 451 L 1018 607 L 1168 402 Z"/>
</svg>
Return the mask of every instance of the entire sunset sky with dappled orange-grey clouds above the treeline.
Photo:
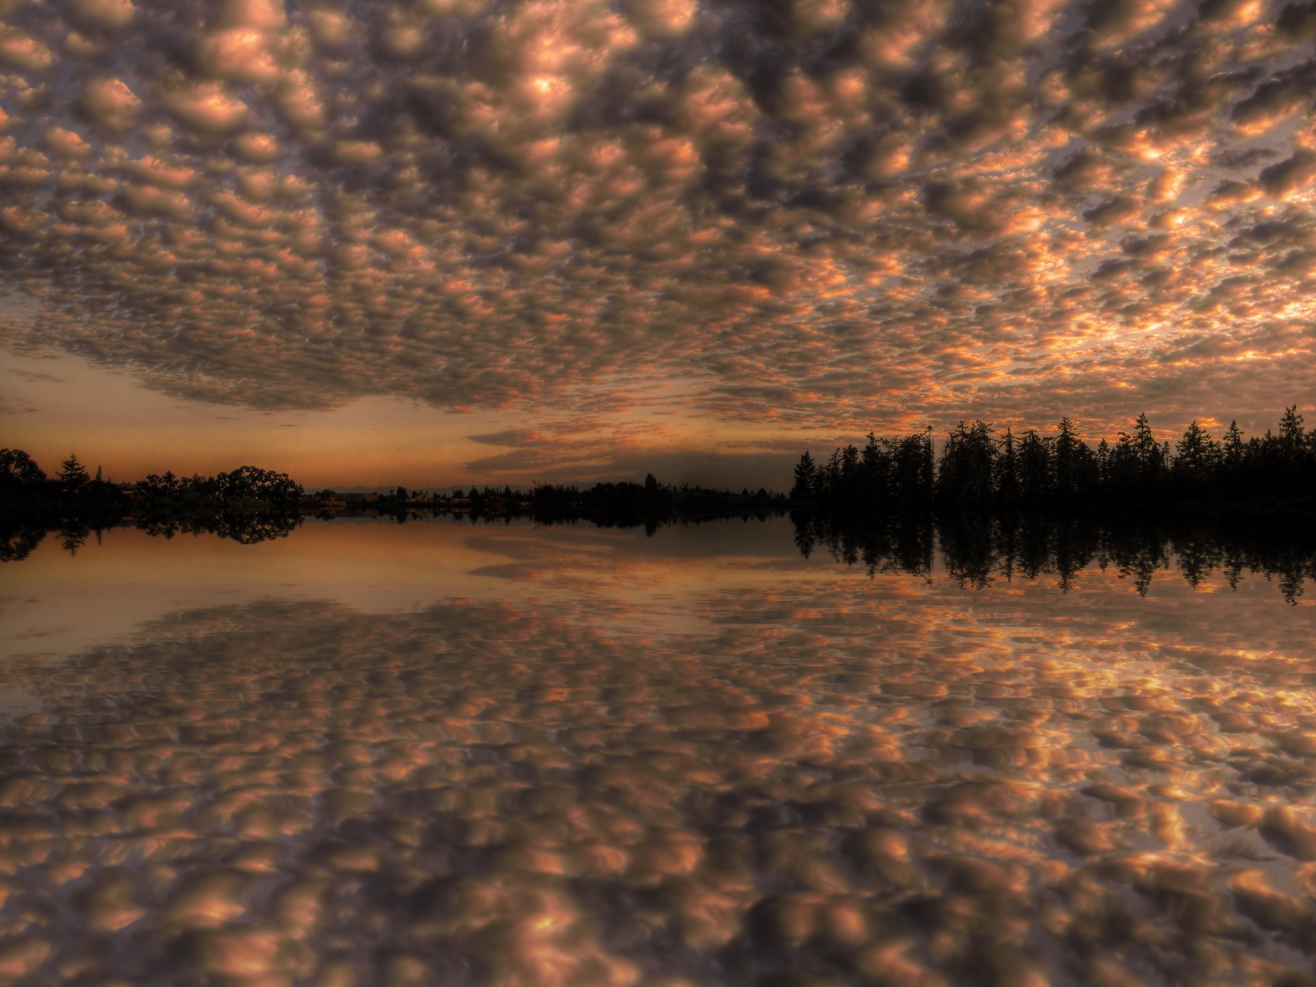
<svg viewBox="0 0 1316 987">
<path fill-rule="evenodd" d="M 790 484 L 1316 397 L 1316 3 L 0 0 L 0 443 Z"/>
</svg>

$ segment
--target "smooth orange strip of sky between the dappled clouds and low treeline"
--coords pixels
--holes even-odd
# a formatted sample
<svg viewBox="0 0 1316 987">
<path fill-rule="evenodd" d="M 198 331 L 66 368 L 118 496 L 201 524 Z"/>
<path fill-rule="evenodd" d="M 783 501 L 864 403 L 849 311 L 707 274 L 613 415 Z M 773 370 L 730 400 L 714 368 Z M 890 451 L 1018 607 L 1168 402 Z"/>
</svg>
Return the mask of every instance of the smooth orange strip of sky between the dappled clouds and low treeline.
<svg viewBox="0 0 1316 987">
<path fill-rule="evenodd" d="M 784 488 L 795 458 L 771 449 L 771 441 L 782 441 L 775 430 L 755 437 L 751 426 L 717 428 L 662 409 L 621 412 L 607 438 L 558 430 L 542 436 L 538 447 L 533 432 L 515 428 L 516 413 L 442 412 L 399 397 L 330 409 L 216 407 L 78 357 L 3 350 L 0 374 L 0 445 L 26 450 L 47 474 L 75 453 L 114 480 L 166 470 L 212 475 L 247 463 L 288 472 L 308 488 L 642 479 L 651 468 L 670 483 Z M 640 436 L 661 438 L 645 445 Z M 799 441 L 808 445 L 805 437 Z"/>
</svg>

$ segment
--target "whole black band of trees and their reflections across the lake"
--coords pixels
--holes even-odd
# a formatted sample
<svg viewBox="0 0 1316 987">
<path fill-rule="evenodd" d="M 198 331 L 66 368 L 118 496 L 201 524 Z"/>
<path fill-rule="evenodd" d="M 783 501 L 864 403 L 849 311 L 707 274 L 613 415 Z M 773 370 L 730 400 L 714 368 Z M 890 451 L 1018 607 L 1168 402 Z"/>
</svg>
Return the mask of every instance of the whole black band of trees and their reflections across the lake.
<svg viewBox="0 0 1316 987">
<path fill-rule="evenodd" d="M 49 532 L 70 551 L 120 524 L 150 534 L 211 533 L 243 544 L 280 538 L 305 517 L 366 513 L 399 522 L 449 516 L 472 524 L 587 522 L 644 526 L 790 513 L 808 558 L 826 553 L 870 574 L 932 578 L 940 559 L 965 587 L 1055 574 L 1062 590 L 1088 566 L 1115 566 L 1146 592 L 1175 567 L 1192 586 L 1245 571 L 1278 580 L 1294 601 L 1316 579 L 1316 433 L 1296 407 L 1278 432 L 1221 440 L 1192 422 L 1171 446 L 1146 415 L 1113 442 L 1088 445 L 1069 418 L 1055 434 L 999 433 L 962 421 L 940 443 L 933 433 L 837 447 L 826 462 L 805 451 L 790 496 L 688 484 L 644 483 L 471 487 L 421 494 L 396 487 L 345 501 L 307 494 L 287 474 L 242 466 L 215 476 L 151 474 L 136 484 L 92 476 L 70 455 L 47 476 L 22 450 L 0 449 L 0 561 L 25 558 Z"/>
</svg>

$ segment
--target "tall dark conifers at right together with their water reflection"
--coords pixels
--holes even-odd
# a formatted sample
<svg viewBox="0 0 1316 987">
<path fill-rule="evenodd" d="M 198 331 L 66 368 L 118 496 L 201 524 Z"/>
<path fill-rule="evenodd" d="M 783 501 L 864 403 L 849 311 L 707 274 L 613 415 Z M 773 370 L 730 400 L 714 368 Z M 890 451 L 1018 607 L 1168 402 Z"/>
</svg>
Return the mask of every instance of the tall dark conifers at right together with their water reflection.
<svg viewBox="0 0 1316 987">
<path fill-rule="evenodd" d="M 1170 445 L 1146 415 L 1095 447 L 1061 418 L 1055 434 L 961 421 L 936 453 L 932 429 L 805 451 L 791 488 L 795 542 L 870 575 L 930 579 L 940 559 L 961 586 L 1115 567 L 1140 594 L 1177 569 L 1194 588 L 1244 572 L 1290 603 L 1316 580 L 1316 433 L 1296 405 L 1279 430 L 1221 440 L 1196 421 Z"/>
</svg>

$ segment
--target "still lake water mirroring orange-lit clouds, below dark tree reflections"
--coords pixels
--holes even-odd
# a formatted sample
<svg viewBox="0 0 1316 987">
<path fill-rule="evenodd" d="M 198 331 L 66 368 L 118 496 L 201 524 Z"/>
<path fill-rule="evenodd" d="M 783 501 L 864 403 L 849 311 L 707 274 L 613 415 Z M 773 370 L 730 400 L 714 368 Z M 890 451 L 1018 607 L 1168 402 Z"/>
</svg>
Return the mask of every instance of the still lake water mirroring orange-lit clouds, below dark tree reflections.
<svg viewBox="0 0 1316 987">
<path fill-rule="evenodd" d="M 1316 608 L 788 521 L 0 567 L 0 983 L 1299 984 Z"/>
</svg>

